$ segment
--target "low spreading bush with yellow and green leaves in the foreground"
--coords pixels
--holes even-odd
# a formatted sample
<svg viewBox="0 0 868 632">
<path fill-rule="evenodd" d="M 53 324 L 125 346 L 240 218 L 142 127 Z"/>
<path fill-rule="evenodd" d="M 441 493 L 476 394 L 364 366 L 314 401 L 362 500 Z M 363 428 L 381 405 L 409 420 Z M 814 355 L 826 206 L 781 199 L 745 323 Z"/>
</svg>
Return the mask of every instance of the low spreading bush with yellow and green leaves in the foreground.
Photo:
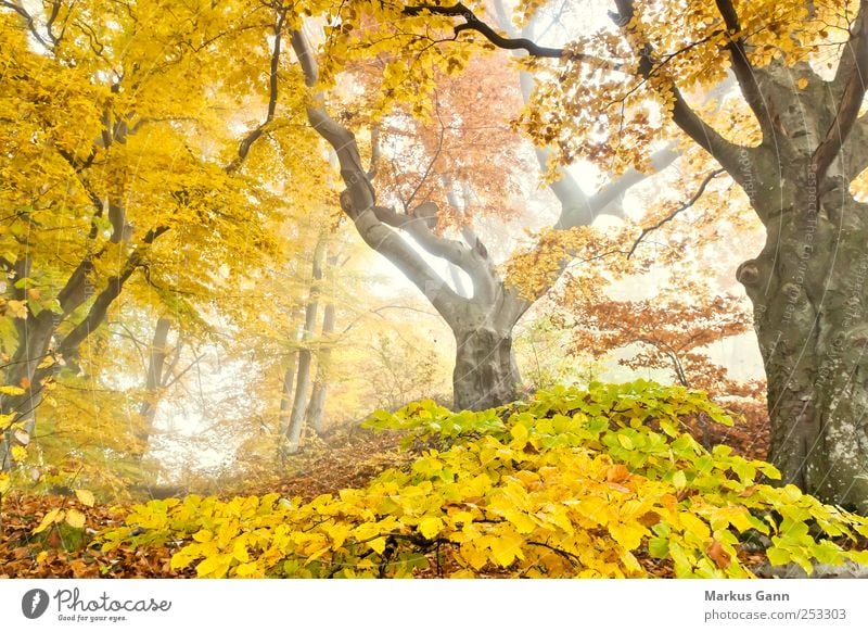
<svg viewBox="0 0 868 632">
<path fill-rule="evenodd" d="M 748 539 L 808 572 L 868 563 L 847 549 L 866 519 L 761 482 L 779 478 L 767 463 L 704 450 L 679 429 L 699 414 L 732 424 L 700 392 L 646 381 L 481 413 L 422 401 L 367 422 L 435 445 L 407 471 L 309 503 L 153 501 L 100 538 L 104 549 L 175 545 L 173 568 L 200 577 L 622 578 L 666 560 L 678 577 L 744 578 Z"/>
</svg>

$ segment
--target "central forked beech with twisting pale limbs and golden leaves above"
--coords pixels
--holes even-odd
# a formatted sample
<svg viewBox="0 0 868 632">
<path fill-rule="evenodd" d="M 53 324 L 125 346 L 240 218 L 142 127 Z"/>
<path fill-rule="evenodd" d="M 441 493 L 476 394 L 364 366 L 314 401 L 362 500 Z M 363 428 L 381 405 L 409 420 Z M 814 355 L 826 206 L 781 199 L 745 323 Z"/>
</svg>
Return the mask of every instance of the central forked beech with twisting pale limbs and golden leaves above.
<svg viewBox="0 0 868 632">
<path fill-rule="evenodd" d="M 353 220 L 362 240 L 407 276 L 448 324 L 457 349 L 452 379 L 455 406 L 482 409 L 515 399 L 521 380 L 512 352 L 513 328 L 534 300 L 556 282 L 572 255 L 567 254 L 566 248 L 547 248 L 545 253 L 538 251 L 540 256 L 535 263 L 544 270 L 540 275 L 542 280 L 532 292 L 522 292 L 505 281 L 501 269 L 489 256 L 488 248 L 473 230 L 472 222 L 456 213 L 455 207 L 460 211 L 460 204 L 454 202 L 457 198 L 455 186 L 461 182 L 455 177 L 436 179 L 437 186 L 432 188 L 435 191 L 441 189 L 439 203 L 434 200 L 419 202 L 417 199 L 418 204 L 405 205 L 405 208 L 381 203 L 374 180 L 376 165 L 372 164 L 376 161 L 378 148 L 366 148 L 373 161 L 362 159 L 354 129 L 331 114 L 330 105 L 335 100 L 327 91 L 336 72 L 352 68 L 353 63 L 360 59 L 375 60 L 378 54 L 404 50 L 405 56 L 386 58 L 382 65 L 382 79 L 376 87 L 378 93 L 383 96 L 380 101 L 407 103 L 412 113 L 431 123 L 434 109 L 439 106 L 432 97 L 435 88 L 449 74 L 465 68 L 474 50 L 472 42 L 444 49 L 432 46 L 432 39 L 435 43 L 437 41 L 436 34 L 448 27 L 449 18 L 439 18 L 433 25 L 432 20 L 430 12 L 401 3 L 355 3 L 329 12 L 329 24 L 336 26 L 326 28 L 321 59 L 302 29 L 293 31 L 292 46 L 304 69 L 306 85 L 311 89 L 311 103 L 307 109 L 310 124 L 337 155 L 346 186 L 341 194 L 344 213 Z M 416 35 L 425 31 L 429 35 Z M 405 63 L 407 59 L 409 64 Z M 519 93 L 515 90 L 518 79 L 515 76 L 513 86 L 507 89 Z M 372 101 L 374 114 L 385 109 L 378 104 L 376 98 Z M 460 130 L 461 119 L 456 117 L 450 125 Z M 422 146 L 425 144 L 431 143 L 423 140 Z M 441 149 L 442 143 L 432 152 L 435 155 L 430 156 L 426 172 L 435 166 L 436 153 Z M 653 165 L 662 168 L 676 156 L 677 152 L 663 149 L 654 155 Z M 540 160 L 545 162 L 545 153 L 540 154 Z M 448 165 L 444 170 L 450 172 Z M 588 195 L 567 174 L 560 174 L 552 191 L 560 202 L 561 213 L 552 228 L 556 237 L 549 236 L 548 245 L 569 241 L 572 247 L 580 248 L 577 244 L 587 242 L 588 235 L 575 229 L 589 226 L 600 213 L 618 214 L 620 198 L 646 177 L 637 169 L 628 169 L 596 194 Z M 417 186 L 413 192 L 419 190 Z M 446 230 L 449 225 L 456 227 L 451 233 Z M 541 244 L 540 250 L 545 245 Z M 463 295 L 458 285 L 450 283 L 446 275 L 439 274 L 422 251 L 467 275 L 471 285 L 468 295 Z"/>
</svg>

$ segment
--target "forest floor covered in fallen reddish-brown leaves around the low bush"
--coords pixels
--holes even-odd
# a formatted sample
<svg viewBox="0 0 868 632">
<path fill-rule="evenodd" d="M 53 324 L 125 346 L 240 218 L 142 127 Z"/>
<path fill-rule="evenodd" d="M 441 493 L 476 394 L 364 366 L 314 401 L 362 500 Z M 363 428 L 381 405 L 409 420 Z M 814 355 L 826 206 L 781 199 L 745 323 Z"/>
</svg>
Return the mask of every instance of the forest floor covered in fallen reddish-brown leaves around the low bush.
<svg viewBox="0 0 868 632">
<path fill-rule="evenodd" d="M 768 445 L 765 420 L 753 417 L 736 427 L 711 425 L 693 427 L 691 433 L 701 442 L 726 443 L 745 458 L 763 458 Z M 277 492 L 286 498 L 310 501 L 320 494 L 336 493 L 346 488 L 361 488 L 390 467 L 408 465 L 418 453 L 399 446 L 395 432 L 374 433 L 357 426 L 339 429 L 324 441 L 315 440 L 286 464 L 286 475 L 273 472 L 257 476 L 256 482 L 221 481 L 220 489 L 193 489 L 191 492 L 233 495 L 264 495 Z M 291 473 L 289 473 L 291 472 Z M 82 505 L 74 495 L 12 493 L 0 514 L 0 579 L 7 578 L 183 578 L 195 577 L 191 568 L 170 567 L 175 553 L 169 547 L 118 547 L 103 553 L 90 539 L 99 531 L 123 522 L 129 506 L 148 498 L 128 502 Z M 34 534 L 34 529 L 52 509 L 78 509 L 86 516 L 84 531 L 52 528 Z M 65 527 L 65 526 L 62 526 Z M 743 553 L 745 565 L 755 567 L 766 561 L 762 553 Z M 639 557 L 639 563 L 653 577 L 673 577 L 665 560 Z M 419 577 L 447 577 L 451 569 L 432 564 Z M 496 576 L 495 576 L 496 577 Z"/>
</svg>

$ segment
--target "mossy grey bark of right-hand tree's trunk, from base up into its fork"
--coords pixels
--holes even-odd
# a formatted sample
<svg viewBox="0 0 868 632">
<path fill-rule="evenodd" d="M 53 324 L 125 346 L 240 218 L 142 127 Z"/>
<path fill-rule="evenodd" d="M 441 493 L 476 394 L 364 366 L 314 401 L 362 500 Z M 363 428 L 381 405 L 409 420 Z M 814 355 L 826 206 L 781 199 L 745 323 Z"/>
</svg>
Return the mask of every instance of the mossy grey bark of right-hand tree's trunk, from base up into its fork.
<svg viewBox="0 0 868 632">
<path fill-rule="evenodd" d="M 766 227 L 762 252 L 737 276 L 768 380 L 769 459 L 783 482 L 868 513 L 868 205 L 850 192 L 863 164 L 846 160 L 844 142 L 817 170 L 840 109 L 834 83 L 807 65 L 757 77 L 777 113 L 773 131 L 730 175 Z M 807 87 L 793 90 L 801 78 Z"/>
</svg>

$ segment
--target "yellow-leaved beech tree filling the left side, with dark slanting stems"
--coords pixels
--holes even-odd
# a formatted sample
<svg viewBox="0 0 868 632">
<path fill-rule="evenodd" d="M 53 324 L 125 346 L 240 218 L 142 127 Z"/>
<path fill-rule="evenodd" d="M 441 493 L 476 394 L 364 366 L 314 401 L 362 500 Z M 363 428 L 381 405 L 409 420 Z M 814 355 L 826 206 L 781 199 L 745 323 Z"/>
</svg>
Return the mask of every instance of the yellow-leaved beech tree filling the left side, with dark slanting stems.
<svg viewBox="0 0 868 632">
<path fill-rule="evenodd" d="M 0 468 L 23 458 L 47 383 L 86 370 L 120 296 L 178 312 L 273 261 L 284 207 L 267 175 L 281 142 L 315 137 L 278 108 L 280 13 L 250 9 L 0 4 Z M 298 172 L 306 210 L 319 174 Z"/>
</svg>

